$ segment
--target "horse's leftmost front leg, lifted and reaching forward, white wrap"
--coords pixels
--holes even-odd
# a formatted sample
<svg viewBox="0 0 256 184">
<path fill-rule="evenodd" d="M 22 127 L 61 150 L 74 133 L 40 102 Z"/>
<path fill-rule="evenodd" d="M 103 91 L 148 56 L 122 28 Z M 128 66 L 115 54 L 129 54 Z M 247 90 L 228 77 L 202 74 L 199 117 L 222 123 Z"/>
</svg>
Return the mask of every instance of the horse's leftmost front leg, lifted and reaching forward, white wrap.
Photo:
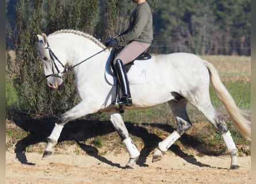
<svg viewBox="0 0 256 184">
<path fill-rule="evenodd" d="M 54 146 L 58 143 L 58 139 L 60 137 L 60 133 L 64 125 L 76 118 L 85 116 L 86 114 L 93 113 L 93 110 L 89 109 L 85 102 L 80 102 L 78 105 L 74 106 L 74 108 L 68 110 L 66 113 L 63 113 L 60 117 L 58 122 L 55 123 L 55 127 L 52 130 L 51 135 L 48 137 L 47 147 L 45 148 L 43 158 L 45 156 L 51 155 L 54 152 Z"/>
</svg>

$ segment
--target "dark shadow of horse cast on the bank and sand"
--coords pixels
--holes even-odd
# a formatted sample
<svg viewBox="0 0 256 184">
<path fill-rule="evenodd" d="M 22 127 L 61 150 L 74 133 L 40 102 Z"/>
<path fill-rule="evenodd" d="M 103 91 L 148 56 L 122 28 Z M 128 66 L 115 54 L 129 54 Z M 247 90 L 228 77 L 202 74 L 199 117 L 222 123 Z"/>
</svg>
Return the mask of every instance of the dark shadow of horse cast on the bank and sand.
<svg viewBox="0 0 256 184">
<path fill-rule="evenodd" d="M 14 150 L 14 152 L 16 153 L 16 158 L 22 164 L 35 165 L 35 163 L 28 162 L 28 159 L 25 155 L 26 148 L 29 147 L 29 145 L 33 145 L 36 143 L 47 143 L 47 137 L 51 134 L 55 122 L 56 118 L 54 117 L 41 119 L 32 118 L 26 120 L 14 120 L 14 123 L 18 125 L 18 127 L 24 129 L 24 131 L 28 133 L 28 135 L 24 137 L 24 139 L 21 139 L 20 141 L 17 142 Z M 149 133 L 145 125 L 151 126 L 152 128 L 156 127 L 164 129 L 167 132 L 173 131 L 173 128 L 171 128 L 169 125 L 163 124 L 138 125 L 131 122 L 125 122 L 125 125 L 128 129 L 128 132 L 131 135 L 140 137 L 143 140 L 144 147 L 140 151 L 140 156 L 139 159 L 137 160 L 137 164 L 140 167 L 148 166 L 146 164 L 147 157 L 155 150 L 159 141 L 162 141 L 162 139 L 155 135 L 155 133 Z M 62 141 L 75 140 L 79 147 L 81 147 L 82 150 L 86 152 L 86 154 L 93 156 L 94 158 L 100 160 L 101 162 L 109 164 L 110 166 L 121 168 L 120 164 L 113 163 L 110 160 L 104 158 L 104 156 L 100 156 L 98 154 L 98 150 L 95 147 L 87 145 L 85 143 L 81 143 L 81 141 L 85 141 L 96 136 L 106 135 L 114 131 L 115 129 L 110 121 L 76 120 L 68 122 L 65 125 L 60 135 L 59 143 Z M 193 145 L 201 144 L 199 140 L 194 139 L 192 136 L 186 134 L 183 135 L 179 140 L 181 141 L 182 144 L 186 145 L 188 144 L 188 142 L 186 141 L 187 139 L 193 140 Z M 194 146 L 193 148 L 197 149 L 197 146 Z M 186 154 L 184 151 L 181 150 L 181 148 L 178 147 L 178 145 L 172 145 L 170 147 L 170 150 L 174 152 L 175 155 L 178 155 L 182 159 L 186 160 L 186 162 L 188 163 L 200 167 L 211 167 L 207 164 L 202 164 L 198 162 L 196 158 L 194 158 L 194 156 Z"/>
</svg>

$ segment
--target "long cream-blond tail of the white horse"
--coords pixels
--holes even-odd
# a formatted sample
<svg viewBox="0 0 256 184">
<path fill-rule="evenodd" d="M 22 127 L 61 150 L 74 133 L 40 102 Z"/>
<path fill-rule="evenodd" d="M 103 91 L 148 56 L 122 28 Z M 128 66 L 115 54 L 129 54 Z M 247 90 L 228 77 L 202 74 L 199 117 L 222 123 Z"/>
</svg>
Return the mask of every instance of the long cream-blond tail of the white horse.
<svg viewBox="0 0 256 184">
<path fill-rule="evenodd" d="M 226 87 L 220 81 L 219 74 L 213 64 L 205 60 L 204 64 L 208 68 L 212 86 L 215 88 L 218 97 L 221 99 L 224 106 L 226 107 L 231 119 L 235 122 L 236 128 L 239 129 L 244 137 L 251 140 L 251 122 L 243 116 L 244 113 L 242 112 L 242 110 L 240 110 L 238 106 L 236 106 L 234 99 L 231 97 Z"/>
</svg>

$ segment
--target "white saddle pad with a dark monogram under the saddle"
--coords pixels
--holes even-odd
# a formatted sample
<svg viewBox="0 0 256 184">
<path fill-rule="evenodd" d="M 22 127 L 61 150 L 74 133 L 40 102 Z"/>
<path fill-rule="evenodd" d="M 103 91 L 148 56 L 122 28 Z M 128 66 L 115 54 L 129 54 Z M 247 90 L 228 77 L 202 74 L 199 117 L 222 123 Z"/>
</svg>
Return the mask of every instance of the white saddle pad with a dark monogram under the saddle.
<svg viewBox="0 0 256 184">
<path fill-rule="evenodd" d="M 105 79 L 110 85 L 116 84 L 117 78 L 113 76 L 108 68 L 109 60 L 106 62 Z M 135 60 L 127 73 L 129 85 L 147 83 L 152 78 L 152 59 Z"/>
</svg>

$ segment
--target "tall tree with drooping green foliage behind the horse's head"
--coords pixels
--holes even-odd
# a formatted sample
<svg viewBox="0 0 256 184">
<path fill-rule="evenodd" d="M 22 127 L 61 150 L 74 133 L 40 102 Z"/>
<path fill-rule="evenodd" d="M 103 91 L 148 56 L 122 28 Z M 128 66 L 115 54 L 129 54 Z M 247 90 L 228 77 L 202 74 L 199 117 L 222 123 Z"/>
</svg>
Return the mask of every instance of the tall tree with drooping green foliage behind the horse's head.
<svg viewBox="0 0 256 184">
<path fill-rule="evenodd" d="M 10 32 L 16 60 L 11 62 L 7 57 L 6 66 L 7 73 L 13 74 L 8 81 L 14 85 L 20 110 L 32 114 L 63 113 L 78 101 L 77 96 L 74 96 L 74 76 L 71 73 L 65 75 L 64 83 L 58 90 L 45 86 L 37 55 L 36 34 L 49 34 L 58 29 L 93 32 L 98 18 L 98 1 L 19 0 L 16 11 L 16 29 Z"/>
</svg>

